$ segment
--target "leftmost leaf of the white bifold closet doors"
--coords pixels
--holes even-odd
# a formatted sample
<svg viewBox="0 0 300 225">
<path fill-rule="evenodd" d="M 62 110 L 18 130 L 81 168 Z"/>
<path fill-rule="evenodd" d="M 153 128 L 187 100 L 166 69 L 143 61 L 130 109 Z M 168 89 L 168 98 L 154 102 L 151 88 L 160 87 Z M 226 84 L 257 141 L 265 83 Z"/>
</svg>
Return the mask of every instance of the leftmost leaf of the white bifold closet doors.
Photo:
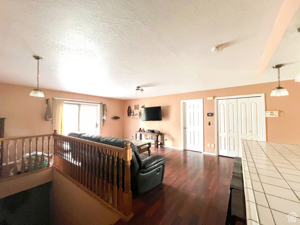
<svg viewBox="0 0 300 225">
<path fill-rule="evenodd" d="M 217 100 L 218 154 L 228 156 L 226 99 Z"/>
</svg>

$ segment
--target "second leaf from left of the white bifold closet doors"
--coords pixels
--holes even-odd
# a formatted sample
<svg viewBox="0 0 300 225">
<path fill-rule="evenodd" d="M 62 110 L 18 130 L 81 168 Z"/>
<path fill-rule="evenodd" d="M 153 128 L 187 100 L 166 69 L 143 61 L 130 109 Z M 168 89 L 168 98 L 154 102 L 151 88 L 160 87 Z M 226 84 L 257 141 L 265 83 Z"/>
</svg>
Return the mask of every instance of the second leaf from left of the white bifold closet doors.
<svg viewBox="0 0 300 225">
<path fill-rule="evenodd" d="M 228 156 L 238 157 L 238 101 L 227 99 L 227 143 Z"/>
</svg>

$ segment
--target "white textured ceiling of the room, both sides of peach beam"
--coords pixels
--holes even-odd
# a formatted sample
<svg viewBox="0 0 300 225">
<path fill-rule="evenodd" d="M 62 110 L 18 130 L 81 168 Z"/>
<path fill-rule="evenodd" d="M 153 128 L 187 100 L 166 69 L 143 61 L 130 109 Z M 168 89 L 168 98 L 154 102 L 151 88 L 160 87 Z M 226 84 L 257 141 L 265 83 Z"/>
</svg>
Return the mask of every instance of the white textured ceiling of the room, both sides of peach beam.
<svg viewBox="0 0 300 225">
<path fill-rule="evenodd" d="M 41 89 L 119 99 L 276 81 L 269 66 L 257 81 L 256 68 L 282 2 L 3 0 L 0 82 L 35 87 L 32 55 L 44 58 Z M 299 58 L 300 45 L 282 42 L 272 65 Z M 228 47 L 211 52 L 222 43 Z M 298 51 L 282 61 L 286 46 Z"/>
</svg>

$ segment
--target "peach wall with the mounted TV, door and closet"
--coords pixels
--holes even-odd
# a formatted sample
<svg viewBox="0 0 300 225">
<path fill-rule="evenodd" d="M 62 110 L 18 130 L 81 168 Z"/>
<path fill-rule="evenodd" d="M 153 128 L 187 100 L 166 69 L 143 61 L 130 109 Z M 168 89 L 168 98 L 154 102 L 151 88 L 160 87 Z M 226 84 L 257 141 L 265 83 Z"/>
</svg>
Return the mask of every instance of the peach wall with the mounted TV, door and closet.
<svg viewBox="0 0 300 225">
<path fill-rule="evenodd" d="M 281 86 L 289 91 L 288 96 L 271 97 L 271 91 L 278 85 L 277 82 L 246 85 L 232 88 L 222 88 L 207 91 L 196 91 L 190 93 L 165 95 L 152 98 L 140 98 L 126 100 L 124 102 L 124 137 L 132 138 L 140 127 L 144 129 L 155 129 L 162 131 L 167 141 L 165 146 L 181 148 L 181 119 L 180 101 L 203 98 L 204 113 L 204 151 L 215 153 L 215 149 L 207 147 L 207 143 L 215 143 L 214 116 L 208 117 L 207 113 L 214 113 L 214 100 L 207 97 L 225 97 L 233 95 L 249 95 L 265 93 L 266 111 L 278 110 L 284 113 L 284 117 L 266 118 L 267 141 L 300 144 L 300 83 L 294 80 L 282 81 Z M 143 122 L 142 119 L 131 119 L 127 116 L 127 108 L 130 105 L 145 105 L 145 107 L 161 106 L 162 121 Z M 137 110 L 134 110 L 137 113 Z M 208 126 L 208 122 L 213 122 Z"/>
</svg>

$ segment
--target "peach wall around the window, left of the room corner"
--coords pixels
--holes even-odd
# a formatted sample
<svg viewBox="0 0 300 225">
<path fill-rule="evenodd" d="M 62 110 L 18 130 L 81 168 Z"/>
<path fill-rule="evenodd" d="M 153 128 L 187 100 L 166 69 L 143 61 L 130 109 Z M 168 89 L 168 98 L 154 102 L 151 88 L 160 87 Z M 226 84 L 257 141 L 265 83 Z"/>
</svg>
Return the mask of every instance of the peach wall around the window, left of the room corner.
<svg viewBox="0 0 300 225">
<path fill-rule="evenodd" d="M 67 98 L 103 102 L 107 105 L 107 117 L 101 128 L 101 136 L 123 137 L 123 101 L 91 95 L 42 89 L 45 98 L 29 96 L 32 87 L 0 83 L 0 117 L 5 119 L 4 137 L 53 133 L 53 120 L 45 121 L 46 99 L 50 99 L 53 113 L 53 98 Z M 121 119 L 113 120 L 113 116 Z"/>
</svg>

